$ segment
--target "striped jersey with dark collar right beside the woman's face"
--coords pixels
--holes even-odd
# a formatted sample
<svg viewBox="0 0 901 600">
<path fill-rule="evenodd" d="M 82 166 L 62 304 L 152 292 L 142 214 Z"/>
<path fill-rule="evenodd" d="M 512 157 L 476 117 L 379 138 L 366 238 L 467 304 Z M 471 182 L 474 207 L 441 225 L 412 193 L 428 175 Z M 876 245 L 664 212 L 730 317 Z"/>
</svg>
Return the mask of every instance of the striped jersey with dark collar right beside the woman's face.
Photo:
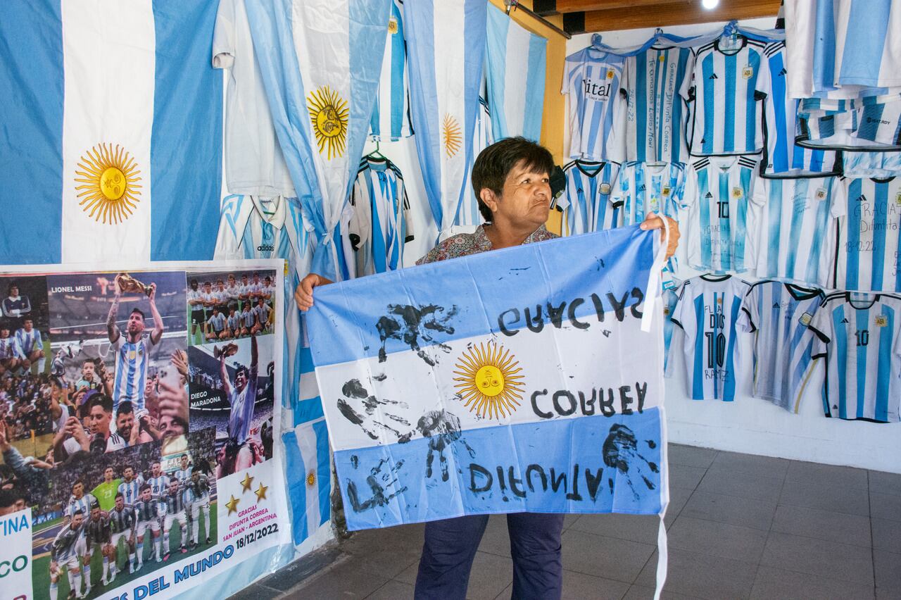
<svg viewBox="0 0 901 600">
<path fill-rule="evenodd" d="M 615 162 L 573 160 L 563 168 L 566 189 L 557 199 L 563 211 L 560 235 L 600 232 L 623 224 L 613 191 L 620 166 Z"/>
</svg>

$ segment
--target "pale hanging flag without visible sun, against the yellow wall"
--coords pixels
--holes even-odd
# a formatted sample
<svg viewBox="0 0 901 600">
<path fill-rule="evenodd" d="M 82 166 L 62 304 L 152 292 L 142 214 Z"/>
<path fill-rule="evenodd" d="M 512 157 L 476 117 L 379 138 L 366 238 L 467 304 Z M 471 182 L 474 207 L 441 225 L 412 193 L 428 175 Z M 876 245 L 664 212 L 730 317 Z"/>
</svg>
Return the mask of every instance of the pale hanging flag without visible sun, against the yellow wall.
<svg viewBox="0 0 901 600">
<path fill-rule="evenodd" d="M 538 141 L 548 41 L 488 5 L 487 44 L 488 105 L 495 140 L 522 135 Z"/>
</svg>

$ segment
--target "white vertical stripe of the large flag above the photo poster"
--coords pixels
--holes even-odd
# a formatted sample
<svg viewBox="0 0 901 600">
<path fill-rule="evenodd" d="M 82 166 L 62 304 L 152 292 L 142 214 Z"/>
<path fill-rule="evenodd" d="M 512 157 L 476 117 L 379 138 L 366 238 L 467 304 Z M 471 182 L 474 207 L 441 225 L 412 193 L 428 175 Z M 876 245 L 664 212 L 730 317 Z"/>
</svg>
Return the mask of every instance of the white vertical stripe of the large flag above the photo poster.
<svg viewBox="0 0 901 600">
<path fill-rule="evenodd" d="M 62 261 L 150 259 L 150 138 L 153 127 L 153 95 L 156 68 L 156 32 L 150 0 L 134 0 L 127 9 L 119 0 L 61 3 L 65 105 L 62 131 Z M 97 85 L 114 80 L 114 86 Z M 110 94 L 110 89 L 116 94 Z M 76 186 L 87 185 L 115 196 L 116 177 L 104 159 L 91 161 L 89 153 L 106 144 L 128 153 L 141 177 L 137 203 L 128 218 L 110 223 L 102 215 L 107 205 L 123 200 L 103 196 L 94 216 L 78 197 Z M 122 167 L 123 157 L 112 166 Z M 82 166 L 79 166 L 80 165 Z M 99 163 L 99 165 L 97 164 Z M 85 168 L 86 167 L 86 168 Z M 87 173 L 87 177 L 77 175 Z M 75 179 L 93 179 L 85 184 Z M 105 189 L 99 189 L 103 184 Z M 89 202 L 89 201 L 88 201 Z M 96 217 L 101 214 L 100 220 Z M 115 234 L 111 232 L 115 231 Z M 124 247 L 122 240 L 129 243 Z"/>
</svg>

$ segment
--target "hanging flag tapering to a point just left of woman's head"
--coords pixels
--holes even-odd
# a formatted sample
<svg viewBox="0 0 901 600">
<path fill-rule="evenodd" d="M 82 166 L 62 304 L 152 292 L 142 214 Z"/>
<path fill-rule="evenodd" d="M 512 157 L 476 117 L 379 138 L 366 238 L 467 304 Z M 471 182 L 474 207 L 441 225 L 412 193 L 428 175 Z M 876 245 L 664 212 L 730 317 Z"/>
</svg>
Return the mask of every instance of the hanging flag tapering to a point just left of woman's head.
<svg viewBox="0 0 901 600">
<path fill-rule="evenodd" d="M 469 194 L 486 7 L 487 0 L 404 5 L 414 140 L 439 238 L 450 233 L 457 207 Z"/>
</svg>

